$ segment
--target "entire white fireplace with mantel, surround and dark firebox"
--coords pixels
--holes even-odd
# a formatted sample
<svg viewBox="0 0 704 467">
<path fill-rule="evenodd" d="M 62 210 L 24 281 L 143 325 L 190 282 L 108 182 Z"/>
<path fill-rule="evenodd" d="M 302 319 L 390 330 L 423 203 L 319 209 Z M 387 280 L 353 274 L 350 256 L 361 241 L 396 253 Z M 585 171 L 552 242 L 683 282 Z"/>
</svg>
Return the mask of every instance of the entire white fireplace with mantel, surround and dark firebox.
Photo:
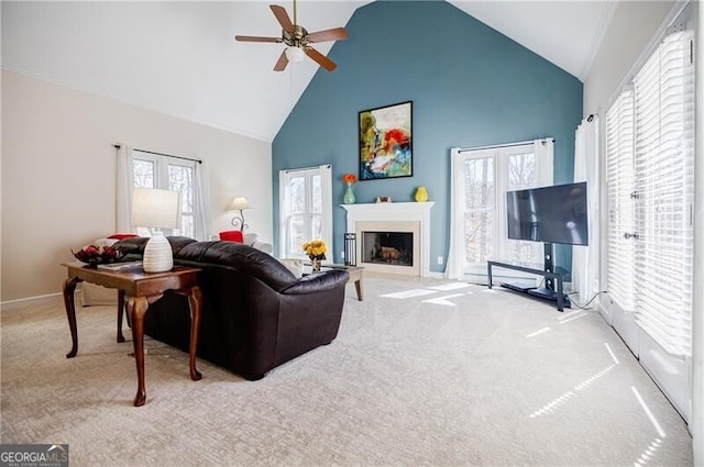
<svg viewBox="0 0 704 467">
<path fill-rule="evenodd" d="M 346 232 L 356 234 L 358 266 L 369 271 L 429 276 L 432 202 L 344 204 Z"/>
</svg>

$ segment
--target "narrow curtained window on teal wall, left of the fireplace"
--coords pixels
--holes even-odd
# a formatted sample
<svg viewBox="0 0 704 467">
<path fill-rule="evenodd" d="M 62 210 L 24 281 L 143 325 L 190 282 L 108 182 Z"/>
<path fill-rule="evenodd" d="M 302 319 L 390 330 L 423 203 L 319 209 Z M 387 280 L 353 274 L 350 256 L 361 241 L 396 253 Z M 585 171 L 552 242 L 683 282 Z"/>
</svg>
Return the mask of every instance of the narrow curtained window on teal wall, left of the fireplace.
<svg viewBox="0 0 704 467">
<path fill-rule="evenodd" d="M 330 166 L 283 170 L 279 176 L 279 255 L 306 258 L 302 244 L 323 240 L 332 260 L 332 193 Z"/>
</svg>

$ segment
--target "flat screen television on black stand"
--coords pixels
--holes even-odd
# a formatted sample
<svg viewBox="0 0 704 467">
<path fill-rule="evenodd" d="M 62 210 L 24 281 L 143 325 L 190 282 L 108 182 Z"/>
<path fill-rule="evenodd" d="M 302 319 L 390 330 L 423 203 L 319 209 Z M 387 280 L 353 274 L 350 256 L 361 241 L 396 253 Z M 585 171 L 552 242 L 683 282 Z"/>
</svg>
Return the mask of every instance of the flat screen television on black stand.
<svg viewBox="0 0 704 467">
<path fill-rule="evenodd" d="M 586 182 L 507 191 L 508 237 L 588 245 Z"/>
</svg>

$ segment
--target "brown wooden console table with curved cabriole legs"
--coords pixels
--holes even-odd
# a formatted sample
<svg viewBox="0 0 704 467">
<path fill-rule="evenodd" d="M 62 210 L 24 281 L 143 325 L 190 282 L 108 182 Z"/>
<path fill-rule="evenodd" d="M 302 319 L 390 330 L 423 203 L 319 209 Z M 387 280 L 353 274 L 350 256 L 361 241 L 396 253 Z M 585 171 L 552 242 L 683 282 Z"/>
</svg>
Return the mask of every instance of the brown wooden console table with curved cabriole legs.
<svg viewBox="0 0 704 467">
<path fill-rule="evenodd" d="M 127 298 L 128 316 L 132 324 L 132 343 L 134 346 L 134 359 L 136 362 L 138 390 L 134 397 L 134 405 L 144 405 L 146 402 L 146 389 L 144 385 L 144 315 L 150 303 L 164 296 L 167 290 L 188 297 L 190 303 L 190 345 L 189 369 L 190 378 L 198 380 L 200 373 L 196 369 L 196 349 L 198 346 L 198 329 L 200 325 L 201 293 L 197 278 L 201 269 L 176 266 L 166 273 L 144 273 L 133 269 L 127 271 L 110 271 L 89 267 L 82 263 L 65 263 L 68 269 L 68 278 L 64 282 L 64 304 L 68 316 L 68 326 L 73 346 L 66 354 L 66 358 L 73 358 L 78 352 L 78 330 L 76 325 L 76 304 L 74 291 L 80 281 L 97 283 L 107 288 L 118 289 L 118 342 L 124 342 L 122 336 L 122 313 Z"/>
</svg>

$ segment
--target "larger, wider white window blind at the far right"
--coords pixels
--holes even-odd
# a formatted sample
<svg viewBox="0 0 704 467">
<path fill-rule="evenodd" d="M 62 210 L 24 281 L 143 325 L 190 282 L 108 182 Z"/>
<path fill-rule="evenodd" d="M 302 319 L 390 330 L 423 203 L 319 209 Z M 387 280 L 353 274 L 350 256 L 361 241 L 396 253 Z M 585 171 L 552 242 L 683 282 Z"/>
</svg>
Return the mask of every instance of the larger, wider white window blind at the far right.
<svg viewBox="0 0 704 467">
<path fill-rule="evenodd" d="M 667 36 L 635 78 L 636 323 L 673 355 L 692 352 L 692 32 Z"/>
</svg>

